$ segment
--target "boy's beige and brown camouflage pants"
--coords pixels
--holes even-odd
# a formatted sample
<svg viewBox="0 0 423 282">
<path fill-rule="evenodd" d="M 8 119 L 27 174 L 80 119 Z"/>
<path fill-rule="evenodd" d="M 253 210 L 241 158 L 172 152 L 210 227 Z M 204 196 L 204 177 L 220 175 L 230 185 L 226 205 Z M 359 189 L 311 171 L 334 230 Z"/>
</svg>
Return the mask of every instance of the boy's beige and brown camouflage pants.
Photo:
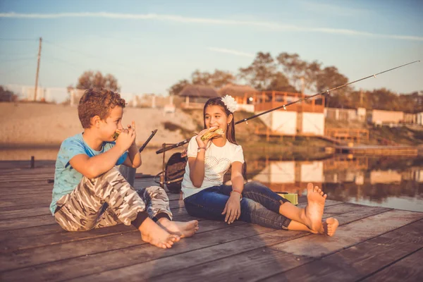
<svg viewBox="0 0 423 282">
<path fill-rule="evenodd" d="M 112 168 L 98 178 L 82 178 L 71 193 L 56 203 L 56 222 L 66 231 L 88 231 L 92 228 L 130 225 L 138 212 L 150 217 L 159 213 L 172 218 L 166 192 L 151 186 L 135 191 L 117 168 Z"/>
</svg>

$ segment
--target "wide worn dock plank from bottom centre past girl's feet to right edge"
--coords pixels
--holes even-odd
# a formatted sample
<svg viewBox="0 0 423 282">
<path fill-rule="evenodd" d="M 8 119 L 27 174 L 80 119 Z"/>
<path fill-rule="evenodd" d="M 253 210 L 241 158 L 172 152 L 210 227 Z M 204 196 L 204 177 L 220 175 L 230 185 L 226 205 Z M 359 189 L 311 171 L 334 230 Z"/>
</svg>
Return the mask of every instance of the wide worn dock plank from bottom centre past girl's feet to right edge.
<svg viewBox="0 0 423 282">
<path fill-rule="evenodd" d="M 399 216 L 403 216 L 403 221 L 399 220 Z M 198 281 L 206 277 L 207 281 L 257 281 L 288 271 L 309 262 L 311 259 L 317 259 L 349 247 L 351 243 L 360 243 L 421 218 L 422 214 L 420 213 L 388 211 L 340 226 L 337 235 L 332 238 L 321 235 L 307 235 L 259 250 L 231 255 L 217 261 L 207 262 L 207 264 L 191 265 L 189 271 L 186 269 L 175 271 L 164 276 L 154 277 L 154 281 L 184 281 L 188 278 L 192 281 Z M 376 223 L 381 223 L 381 221 L 384 223 L 381 224 L 382 227 L 379 227 Z M 372 228 L 369 228 L 369 226 L 372 226 Z M 351 229 L 355 232 L 346 232 Z M 354 238 L 351 238 L 352 236 Z M 281 255 L 276 255 L 275 251 L 281 252 Z M 276 264 L 273 263 L 275 261 Z M 142 268 L 142 266 L 140 267 Z M 276 281 L 278 280 L 276 279 Z"/>
</svg>

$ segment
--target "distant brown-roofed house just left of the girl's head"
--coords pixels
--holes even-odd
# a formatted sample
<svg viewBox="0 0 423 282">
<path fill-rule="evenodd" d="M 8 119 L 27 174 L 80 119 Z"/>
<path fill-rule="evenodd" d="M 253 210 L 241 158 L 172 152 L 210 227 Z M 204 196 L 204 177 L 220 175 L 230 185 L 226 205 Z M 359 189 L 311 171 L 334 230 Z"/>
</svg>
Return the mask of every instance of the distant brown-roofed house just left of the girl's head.
<svg viewBox="0 0 423 282">
<path fill-rule="evenodd" d="M 178 96 L 185 97 L 185 103 L 181 104 L 184 109 L 202 109 L 208 99 L 220 97 L 221 95 L 210 86 L 186 85 L 178 93 Z"/>
</svg>

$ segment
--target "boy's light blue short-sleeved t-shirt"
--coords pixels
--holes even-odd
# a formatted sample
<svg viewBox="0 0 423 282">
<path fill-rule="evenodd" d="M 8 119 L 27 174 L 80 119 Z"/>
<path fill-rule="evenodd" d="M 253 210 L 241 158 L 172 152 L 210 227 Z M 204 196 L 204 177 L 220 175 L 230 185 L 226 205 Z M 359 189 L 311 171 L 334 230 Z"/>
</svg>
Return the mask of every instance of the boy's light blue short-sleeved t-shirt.
<svg viewBox="0 0 423 282">
<path fill-rule="evenodd" d="M 54 171 L 54 187 L 53 187 L 53 199 L 50 204 L 51 214 L 54 214 L 56 210 L 56 202 L 66 194 L 72 192 L 82 179 L 82 173 L 75 171 L 69 161 L 77 154 L 86 154 L 88 157 L 97 156 L 102 154 L 112 147 L 115 142 L 104 142 L 103 147 L 100 151 L 96 151 L 85 143 L 82 138 L 82 133 L 75 136 L 69 137 L 64 140 L 60 146 L 59 154 L 56 159 L 56 170 Z M 123 164 L 128 152 L 125 152 L 116 162 L 116 165 Z"/>
</svg>

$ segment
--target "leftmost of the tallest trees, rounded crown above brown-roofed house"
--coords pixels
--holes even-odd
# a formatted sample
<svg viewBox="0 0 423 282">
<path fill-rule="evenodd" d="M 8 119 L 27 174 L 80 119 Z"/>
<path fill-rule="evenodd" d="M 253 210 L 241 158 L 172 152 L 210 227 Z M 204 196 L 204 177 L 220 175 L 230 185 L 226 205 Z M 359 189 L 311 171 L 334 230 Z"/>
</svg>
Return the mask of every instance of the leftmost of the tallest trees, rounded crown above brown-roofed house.
<svg viewBox="0 0 423 282">
<path fill-rule="evenodd" d="M 250 66 L 240 68 L 240 78 L 257 90 L 269 89 L 275 74 L 276 63 L 270 53 L 259 52 Z"/>
</svg>

